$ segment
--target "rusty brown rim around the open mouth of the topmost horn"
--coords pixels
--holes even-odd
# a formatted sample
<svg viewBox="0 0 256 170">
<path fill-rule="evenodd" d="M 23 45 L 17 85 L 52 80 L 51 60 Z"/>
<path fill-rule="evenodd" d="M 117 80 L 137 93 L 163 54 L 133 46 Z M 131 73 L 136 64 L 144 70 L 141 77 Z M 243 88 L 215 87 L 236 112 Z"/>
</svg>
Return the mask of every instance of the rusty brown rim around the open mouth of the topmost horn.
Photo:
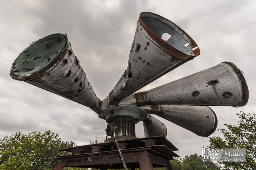
<svg viewBox="0 0 256 170">
<path fill-rule="evenodd" d="M 157 21 L 162 22 L 163 24 L 167 25 L 168 27 L 174 29 L 178 34 L 180 34 L 181 37 L 183 37 L 184 39 L 187 40 L 187 42 L 191 46 L 191 49 L 190 49 L 191 54 L 189 55 L 182 51 L 179 51 L 175 47 L 173 47 L 172 45 L 170 45 L 169 43 L 164 41 L 161 37 L 159 37 L 157 34 L 155 34 L 155 32 L 153 32 L 150 28 L 148 28 L 148 26 L 142 21 L 143 17 L 148 17 L 148 18 L 157 20 Z M 197 44 L 195 43 L 195 41 L 185 31 L 183 31 L 180 27 L 178 27 L 175 23 L 167 20 L 166 18 L 164 18 L 160 15 L 154 14 L 154 13 L 143 12 L 140 14 L 139 24 L 147 32 L 148 36 L 154 40 L 154 43 L 157 46 L 159 46 L 164 52 L 168 53 L 172 57 L 177 58 L 179 60 L 183 60 L 183 59 L 187 58 L 188 56 L 196 57 L 196 56 L 200 55 L 200 50 L 197 47 Z M 197 49 L 195 49 L 193 51 L 193 48 L 195 48 L 195 47 L 197 47 Z"/>
</svg>

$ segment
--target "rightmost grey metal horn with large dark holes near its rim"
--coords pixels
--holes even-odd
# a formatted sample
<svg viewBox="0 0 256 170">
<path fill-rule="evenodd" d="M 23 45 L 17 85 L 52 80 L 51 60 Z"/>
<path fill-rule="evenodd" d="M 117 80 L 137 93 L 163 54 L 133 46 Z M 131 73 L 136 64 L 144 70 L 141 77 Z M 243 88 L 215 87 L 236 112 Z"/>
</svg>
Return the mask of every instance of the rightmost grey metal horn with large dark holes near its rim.
<svg viewBox="0 0 256 170">
<path fill-rule="evenodd" d="M 244 106 L 249 91 L 241 71 L 233 63 L 223 62 L 135 96 L 138 106 Z"/>
</svg>

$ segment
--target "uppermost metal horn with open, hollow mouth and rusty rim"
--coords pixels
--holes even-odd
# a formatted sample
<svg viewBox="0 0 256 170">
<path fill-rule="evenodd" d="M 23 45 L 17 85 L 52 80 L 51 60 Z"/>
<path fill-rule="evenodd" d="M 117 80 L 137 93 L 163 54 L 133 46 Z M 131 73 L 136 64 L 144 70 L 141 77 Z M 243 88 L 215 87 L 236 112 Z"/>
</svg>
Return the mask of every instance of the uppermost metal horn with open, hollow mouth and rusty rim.
<svg viewBox="0 0 256 170">
<path fill-rule="evenodd" d="M 168 38 L 164 38 L 164 36 Z M 109 94 L 117 104 L 148 83 L 200 54 L 194 40 L 173 22 L 144 12 L 137 22 L 127 70 Z"/>
</svg>

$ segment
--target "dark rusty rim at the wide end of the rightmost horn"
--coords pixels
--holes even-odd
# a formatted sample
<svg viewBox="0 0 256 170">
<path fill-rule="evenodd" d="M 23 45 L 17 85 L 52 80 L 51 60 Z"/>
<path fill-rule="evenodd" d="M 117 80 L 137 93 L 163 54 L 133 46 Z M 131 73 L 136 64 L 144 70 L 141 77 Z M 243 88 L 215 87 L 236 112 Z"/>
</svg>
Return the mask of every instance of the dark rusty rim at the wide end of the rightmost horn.
<svg viewBox="0 0 256 170">
<path fill-rule="evenodd" d="M 237 106 L 244 106 L 247 104 L 248 100 L 249 100 L 249 89 L 247 86 L 247 83 L 245 81 L 245 78 L 241 72 L 241 70 L 239 68 L 236 67 L 236 65 L 234 65 L 232 62 L 228 62 L 228 61 L 224 61 L 222 62 L 223 64 L 228 64 L 229 66 L 231 66 L 234 71 L 236 72 L 240 82 L 241 82 L 241 86 L 242 86 L 242 101 L 237 104 Z"/>
</svg>

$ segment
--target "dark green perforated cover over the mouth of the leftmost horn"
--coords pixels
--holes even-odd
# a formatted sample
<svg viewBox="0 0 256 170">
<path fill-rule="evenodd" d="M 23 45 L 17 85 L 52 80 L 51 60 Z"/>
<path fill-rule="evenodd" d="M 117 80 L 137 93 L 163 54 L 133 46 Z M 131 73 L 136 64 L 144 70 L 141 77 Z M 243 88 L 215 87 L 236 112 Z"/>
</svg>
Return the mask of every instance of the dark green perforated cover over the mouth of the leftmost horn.
<svg viewBox="0 0 256 170">
<path fill-rule="evenodd" d="M 11 77 L 26 81 L 40 75 L 58 62 L 65 53 L 68 38 L 63 34 L 52 34 L 23 50 L 12 64 Z"/>
</svg>

